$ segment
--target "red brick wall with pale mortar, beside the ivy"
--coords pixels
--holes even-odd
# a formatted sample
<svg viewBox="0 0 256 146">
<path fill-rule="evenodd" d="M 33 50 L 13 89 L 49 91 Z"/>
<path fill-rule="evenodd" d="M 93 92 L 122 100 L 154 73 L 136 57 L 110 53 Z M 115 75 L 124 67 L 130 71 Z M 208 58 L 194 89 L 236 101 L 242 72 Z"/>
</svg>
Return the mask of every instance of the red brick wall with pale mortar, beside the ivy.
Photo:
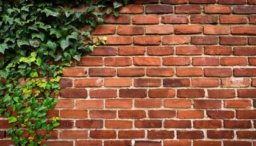
<svg viewBox="0 0 256 146">
<path fill-rule="evenodd" d="M 107 45 L 63 74 L 49 145 L 256 145 L 254 4 L 138 0 L 106 17 Z"/>
</svg>

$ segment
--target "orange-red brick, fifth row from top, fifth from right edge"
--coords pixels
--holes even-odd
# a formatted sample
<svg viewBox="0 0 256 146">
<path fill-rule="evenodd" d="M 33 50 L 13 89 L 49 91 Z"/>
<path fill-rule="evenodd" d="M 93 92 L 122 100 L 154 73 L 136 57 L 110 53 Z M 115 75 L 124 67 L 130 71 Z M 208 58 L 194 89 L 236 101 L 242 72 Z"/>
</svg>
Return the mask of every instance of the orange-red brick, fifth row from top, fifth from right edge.
<svg viewBox="0 0 256 146">
<path fill-rule="evenodd" d="M 161 36 L 135 36 L 133 43 L 138 45 L 158 45 L 161 43 Z"/>
</svg>

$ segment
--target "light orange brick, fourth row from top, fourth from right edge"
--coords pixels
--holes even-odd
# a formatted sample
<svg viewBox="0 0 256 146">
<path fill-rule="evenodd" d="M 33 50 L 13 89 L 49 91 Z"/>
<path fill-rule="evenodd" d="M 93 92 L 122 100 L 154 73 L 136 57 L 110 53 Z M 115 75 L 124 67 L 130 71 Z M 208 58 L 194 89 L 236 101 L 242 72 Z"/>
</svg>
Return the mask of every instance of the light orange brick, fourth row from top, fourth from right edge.
<svg viewBox="0 0 256 146">
<path fill-rule="evenodd" d="M 146 26 L 145 28 L 148 35 L 169 35 L 173 33 L 172 26 Z"/>
</svg>

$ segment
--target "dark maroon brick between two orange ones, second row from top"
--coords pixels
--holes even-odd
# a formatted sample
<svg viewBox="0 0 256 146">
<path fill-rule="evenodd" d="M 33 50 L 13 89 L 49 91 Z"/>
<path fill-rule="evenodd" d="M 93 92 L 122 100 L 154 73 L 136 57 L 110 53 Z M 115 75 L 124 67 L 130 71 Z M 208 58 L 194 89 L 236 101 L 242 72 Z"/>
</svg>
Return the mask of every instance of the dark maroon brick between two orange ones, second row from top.
<svg viewBox="0 0 256 146">
<path fill-rule="evenodd" d="M 146 13 L 172 13 L 172 5 L 147 5 Z"/>
</svg>

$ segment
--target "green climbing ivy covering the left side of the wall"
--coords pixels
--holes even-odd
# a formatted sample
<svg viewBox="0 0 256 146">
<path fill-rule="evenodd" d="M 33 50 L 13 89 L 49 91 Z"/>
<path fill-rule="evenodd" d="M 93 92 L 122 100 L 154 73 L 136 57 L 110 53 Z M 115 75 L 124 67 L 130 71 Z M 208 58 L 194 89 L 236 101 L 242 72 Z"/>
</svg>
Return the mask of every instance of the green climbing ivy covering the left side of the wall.
<svg viewBox="0 0 256 146">
<path fill-rule="evenodd" d="M 107 38 L 94 41 L 91 32 L 104 15 L 118 16 L 122 2 L 132 0 L 0 1 L 0 114 L 12 124 L 7 134 L 15 145 L 41 145 L 60 125 L 47 114 L 57 103 L 64 67 L 105 44 Z M 84 10 L 76 11 L 80 5 Z"/>
</svg>

